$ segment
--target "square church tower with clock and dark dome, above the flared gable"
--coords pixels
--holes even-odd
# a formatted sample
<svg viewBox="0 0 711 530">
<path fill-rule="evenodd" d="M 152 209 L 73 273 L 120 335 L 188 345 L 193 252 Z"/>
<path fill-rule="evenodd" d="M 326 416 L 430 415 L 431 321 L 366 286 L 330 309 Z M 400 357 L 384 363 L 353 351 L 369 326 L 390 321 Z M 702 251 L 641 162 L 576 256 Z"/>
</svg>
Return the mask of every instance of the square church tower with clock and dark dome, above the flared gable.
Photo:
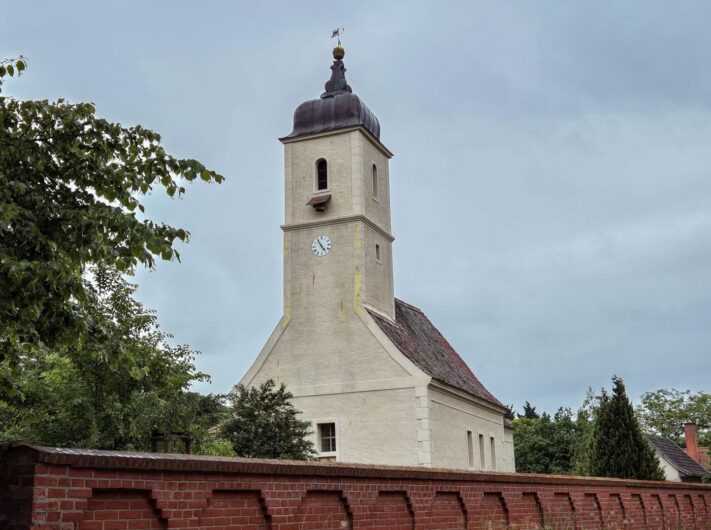
<svg viewBox="0 0 711 530">
<path fill-rule="evenodd" d="M 294 130 L 281 139 L 285 311 L 324 323 L 351 318 L 364 303 L 391 318 L 395 312 L 392 153 L 380 142 L 378 119 L 348 86 L 343 56 L 336 47 L 325 92 L 296 109 Z"/>
</svg>

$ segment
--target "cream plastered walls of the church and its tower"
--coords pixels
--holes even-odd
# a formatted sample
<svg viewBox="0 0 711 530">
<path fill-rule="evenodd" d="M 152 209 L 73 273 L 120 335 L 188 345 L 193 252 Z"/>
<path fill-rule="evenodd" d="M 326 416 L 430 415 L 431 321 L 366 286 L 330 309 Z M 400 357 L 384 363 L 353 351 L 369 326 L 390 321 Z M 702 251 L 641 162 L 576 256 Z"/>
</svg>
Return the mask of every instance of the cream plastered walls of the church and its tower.
<svg viewBox="0 0 711 530">
<path fill-rule="evenodd" d="M 496 432 L 503 444 L 501 414 L 497 423 L 496 414 L 466 400 L 433 399 L 431 378 L 395 348 L 364 308 L 394 318 L 389 156 L 359 129 L 286 143 L 284 316 L 241 383 L 284 383 L 314 430 L 318 423 L 335 423 L 337 451 L 329 457 L 339 461 L 462 468 L 460 448 L 448 445 L 453 429 L 489 414 L 481 427 Z M 320 158 L 328 163 L 323 191 L 315 182 Z M 321 194 L 332 198 L 325 212 L 316 212 L 306 203 Z M 332 241 L 324 257 L 311 251 L 318 235 Z M 451 405 L 445 412 L 443 402 Z M 457 408 L 464 416 L 449 412 Z M 503 447 L 500 453 L 497 463 L 506 460 Z"/>
</svg>

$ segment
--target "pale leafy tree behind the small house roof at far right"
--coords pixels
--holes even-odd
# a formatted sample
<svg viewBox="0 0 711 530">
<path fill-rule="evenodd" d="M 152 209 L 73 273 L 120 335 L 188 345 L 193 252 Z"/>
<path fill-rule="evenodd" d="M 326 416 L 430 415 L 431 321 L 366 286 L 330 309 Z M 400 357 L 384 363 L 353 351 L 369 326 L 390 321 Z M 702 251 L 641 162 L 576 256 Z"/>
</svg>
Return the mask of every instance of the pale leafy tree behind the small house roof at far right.
<svg viewBox="0 0 711 530">
<path fill-rule="evenodd" d="M 659 389 L 642 394 L 637 414 L 649 430 L 684 445 L 684 423 L 693 422 L 699 444 L 711 447 L 711 394 Z"/>
</svg>

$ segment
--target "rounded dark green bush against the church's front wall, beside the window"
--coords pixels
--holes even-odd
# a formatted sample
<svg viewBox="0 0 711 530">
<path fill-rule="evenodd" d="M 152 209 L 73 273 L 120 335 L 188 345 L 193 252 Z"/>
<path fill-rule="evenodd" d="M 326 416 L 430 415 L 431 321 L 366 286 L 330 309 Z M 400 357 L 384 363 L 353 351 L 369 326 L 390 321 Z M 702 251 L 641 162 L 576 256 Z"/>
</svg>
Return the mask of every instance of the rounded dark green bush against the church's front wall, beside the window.
<svg viewBox="0 0 711 530">
<path fill-rule="evenodd" d="M 236 456 L 306 460 L 314 456 L 311 425 L 299 420 L 292 394 L 271 379 L 259 387 L 238 385 L 229 395 L 230 418 L 221 426 Z"/>
</svg>

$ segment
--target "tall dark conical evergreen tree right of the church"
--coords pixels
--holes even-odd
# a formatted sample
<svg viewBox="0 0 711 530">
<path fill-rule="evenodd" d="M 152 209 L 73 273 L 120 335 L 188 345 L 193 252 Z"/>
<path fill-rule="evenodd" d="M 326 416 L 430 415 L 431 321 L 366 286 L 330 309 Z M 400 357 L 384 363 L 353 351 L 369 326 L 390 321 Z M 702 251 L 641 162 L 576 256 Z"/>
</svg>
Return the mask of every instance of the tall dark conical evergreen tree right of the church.
<svg viewBox="0 0 711 530">
<path fill-rule="evenodd" d="M 595 415 L 588 454 L 590 475 L 664 480 L 652 446 L 634 415 L 621 378 L 613 377 L 612 395 L 605 393 Z"/>
</svg>

